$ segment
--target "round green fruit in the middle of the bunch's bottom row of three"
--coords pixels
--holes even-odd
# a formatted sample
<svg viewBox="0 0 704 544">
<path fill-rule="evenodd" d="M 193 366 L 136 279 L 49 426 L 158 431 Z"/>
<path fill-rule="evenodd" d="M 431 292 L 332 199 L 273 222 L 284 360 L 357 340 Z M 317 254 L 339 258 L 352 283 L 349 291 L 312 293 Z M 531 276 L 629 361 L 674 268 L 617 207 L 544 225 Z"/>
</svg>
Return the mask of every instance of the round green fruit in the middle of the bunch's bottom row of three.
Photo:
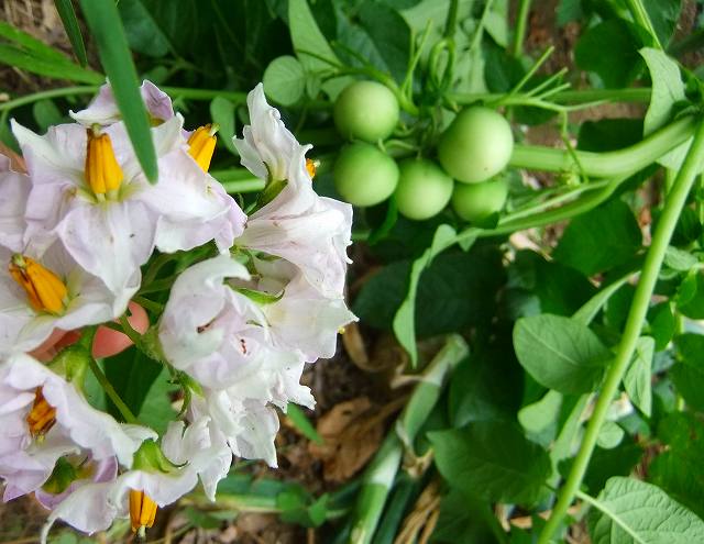
<svg viewBox="0 0 704 544">
<path fill-rule="evenodd" d="M 424 220 L 440 213 L 452 197 L 454 182 L 432 160 L 408 158 L 398 165 L 396 204 L 402 215 Z"/>
</svg>

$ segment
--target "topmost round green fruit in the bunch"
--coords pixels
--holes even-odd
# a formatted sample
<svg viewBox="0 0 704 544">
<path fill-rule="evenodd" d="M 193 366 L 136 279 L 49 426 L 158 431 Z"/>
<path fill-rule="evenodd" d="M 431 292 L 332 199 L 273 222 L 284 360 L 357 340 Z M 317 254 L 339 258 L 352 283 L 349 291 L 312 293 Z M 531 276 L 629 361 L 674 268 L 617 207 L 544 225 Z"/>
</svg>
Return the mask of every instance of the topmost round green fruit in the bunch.
<svg viewBox="0 0 704 544">
<path fill-rule="evenodd" d="M 355 81 L 336 100 L 333 118 L 345 138 L 375 143 L 394 132 L 398 123 L 398 101 L 382 84 Z"/>
</svg>

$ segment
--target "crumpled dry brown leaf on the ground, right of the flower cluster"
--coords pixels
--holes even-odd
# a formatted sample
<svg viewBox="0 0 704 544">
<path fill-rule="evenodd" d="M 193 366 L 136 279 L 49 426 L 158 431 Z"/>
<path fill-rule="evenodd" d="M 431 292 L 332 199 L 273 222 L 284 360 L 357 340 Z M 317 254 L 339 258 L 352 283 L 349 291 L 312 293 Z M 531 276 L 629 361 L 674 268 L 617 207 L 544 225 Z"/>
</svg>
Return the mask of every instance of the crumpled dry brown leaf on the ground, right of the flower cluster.
<svg viewBox="0 0 704 544">
<path fill-rule="evenodd" d="M 318 420 L 323 444 L 309 444 L 310 455 L 322 460 L 327 481 L 352 477 L 374 455 L 384 435 L 384 419 L 372 401 L 359 397 L 336 404 Z"/>
</svg>

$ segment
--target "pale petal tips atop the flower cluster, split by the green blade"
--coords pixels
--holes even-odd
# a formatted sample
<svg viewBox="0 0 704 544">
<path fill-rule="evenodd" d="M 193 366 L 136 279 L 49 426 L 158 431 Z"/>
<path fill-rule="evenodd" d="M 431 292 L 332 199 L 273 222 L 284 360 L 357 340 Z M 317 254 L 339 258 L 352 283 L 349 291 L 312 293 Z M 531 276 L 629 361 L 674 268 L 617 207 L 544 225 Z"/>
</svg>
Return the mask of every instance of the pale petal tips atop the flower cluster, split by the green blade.
<svg viewBox="0 0 704 544">
<path fill-rule="evenodd" d="M 140 87 L 140 93 L 153 121 L 168 121 L 174 116 L 172 99 L 153 82 L 144 80 Z M 110 84 L 100 87 L 98 95 L 88 104 L 88 108 L 78 112 L 72 111 L 70 116 L 85 126 L 108 125 L 122 120 Z"/>
</svg>

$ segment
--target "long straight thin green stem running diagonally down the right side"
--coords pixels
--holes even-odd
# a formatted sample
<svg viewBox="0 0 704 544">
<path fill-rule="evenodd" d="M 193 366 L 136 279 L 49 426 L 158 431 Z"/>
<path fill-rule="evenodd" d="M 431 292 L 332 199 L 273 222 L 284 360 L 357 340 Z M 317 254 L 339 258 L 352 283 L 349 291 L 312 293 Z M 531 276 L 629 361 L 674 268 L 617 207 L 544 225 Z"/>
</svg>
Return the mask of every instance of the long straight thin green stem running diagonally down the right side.
<svg viewBox="0 0 704 544">
<path fill-rule="evenodd" d="M 688 195 L 694 184 L 697 170 L 701 166 L 702 154 L 704 153 L 704 122 L 700 122 L 694 141 L 690 146 L 690 149 L 684 159 L 684 164 L 678 174 L 672 190 L 668 195 L 658 221 L 652 243 L 646 255 L 642 273 L 638 287 L 634 295 L 634 299 L 628 312 L 628 319 L 626 321 L 626 327 L 620 343 L 618 344 L 618 351 L 616 357 L 612 363 L 610 368 L 606 374 L 606 380 L 600 392 L 598 400 L 594 407 L 594 412 L 590 419 L 590 423 L 586 426 L 580 451 L 574 458 L 574 464 L 570 470 L 570 476 L 560 493 L 560 498 L 552 510 L 552 514 L 548 520 L 538 544 L 547 544 L 550 542 L 553 533 L 558 530 L 566 511 L 574 499 L 576 491 L 580 489 L 584 474 L 592 457 L 592 452 L 596 445 L 596 438 L 606 419 L 606 412 L 614 398 L 614 395 L 618 390 L 620 380 L 626 371 L 628 363 L 630 362 L 634 351 L 636 349 L 636 343 L 640 335 L 652 290 L 654 289 L 660 267 L 664 258 L 664 253 L 674 232 L 678 219 L 682 212 L 682 208 L 686 202 Z"/>
</svg>

